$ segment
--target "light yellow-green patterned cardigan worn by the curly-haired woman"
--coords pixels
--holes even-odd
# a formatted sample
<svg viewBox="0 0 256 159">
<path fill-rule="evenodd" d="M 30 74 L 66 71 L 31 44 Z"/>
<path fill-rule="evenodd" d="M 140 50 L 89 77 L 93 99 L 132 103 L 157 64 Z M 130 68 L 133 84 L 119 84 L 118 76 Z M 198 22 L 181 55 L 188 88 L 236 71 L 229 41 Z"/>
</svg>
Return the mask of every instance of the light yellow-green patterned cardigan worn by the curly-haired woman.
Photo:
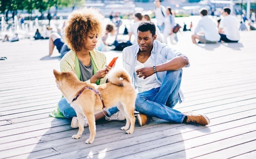
<svg viewBox="0 0 256 159">
<path fill-rule="evenodd" d="M 106 65 L 105 54 L 103 54 L 98 50 L 92 50 L 90 51 L 90 56 L 91 56 L 91 63 L 93 68 L 92 74 L 95 74 L 98 70 L 105 68 L 105 65 Z M 61 72 L 70 71 L 71 69 L 75 70 L 78 79 L 81 80 L 81 71 L 80 71 L 79 61 L 75 51 L 72 51 L 72 50 L 69 51 L 65 56 L 63 56 L 63 58 L 60 61 Z M 107 81 L 107 75 L 104 78 L 98 80 L 96 84 L 97 85 L 104 84 L 106 83 L 106 81 Z M 90 83 L 90 80 L 85 82 Z M 57 108 L 49 115 L 52 117 L 65 118 L 65 116 L 63 116 L 63 114 L 59 111 L 58 104 L 57 104 Z"/>
</svg>

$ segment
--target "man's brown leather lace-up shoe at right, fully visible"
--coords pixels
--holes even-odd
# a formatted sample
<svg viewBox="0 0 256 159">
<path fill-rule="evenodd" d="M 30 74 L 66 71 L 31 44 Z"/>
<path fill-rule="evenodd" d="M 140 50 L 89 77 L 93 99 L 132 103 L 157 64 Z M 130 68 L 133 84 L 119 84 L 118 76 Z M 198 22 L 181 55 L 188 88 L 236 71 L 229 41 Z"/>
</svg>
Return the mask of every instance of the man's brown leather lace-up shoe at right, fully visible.
<svg viewBox="0 0 256 159">
<path fill-rule="evenodd" d="M 184 112 L 187 116 L 187 123 L 188 124 L 201 124 L 201 125 L 208 125 L 210 120 L 205 115 L 196 114 L 193 112 Z"/>
</svg>

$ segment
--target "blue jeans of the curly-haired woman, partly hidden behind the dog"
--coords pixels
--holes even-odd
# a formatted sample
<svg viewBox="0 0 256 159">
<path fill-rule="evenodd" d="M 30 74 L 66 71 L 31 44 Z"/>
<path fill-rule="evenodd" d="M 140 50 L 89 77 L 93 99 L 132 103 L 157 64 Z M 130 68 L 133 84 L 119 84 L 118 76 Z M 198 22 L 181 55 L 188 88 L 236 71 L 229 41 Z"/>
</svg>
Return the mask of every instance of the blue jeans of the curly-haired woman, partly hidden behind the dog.
<svg viewBox="0 0 256 159">
<path fill-rule="evenodd" d="M 66 117 L 66 118 L 72 118 L 74 116 L 76 116 L 76 112 L 74 110 L 74 108 L 72 108 L 70 106 L 70 104 L 68 104 L 66 98 L 61 98 L 59 100 L 59 103 L 58 103 L 58 106 L 59 106 L 59 110 L 60 112 Z M 114 106 L 114 107 L 111 107 L 107 110 L 105 110 L 108 114 L 108 116 L 111 116 L 112 114 L 114 114 L 115 112 L 118 111 L 117 107 Z"/>
</svg>

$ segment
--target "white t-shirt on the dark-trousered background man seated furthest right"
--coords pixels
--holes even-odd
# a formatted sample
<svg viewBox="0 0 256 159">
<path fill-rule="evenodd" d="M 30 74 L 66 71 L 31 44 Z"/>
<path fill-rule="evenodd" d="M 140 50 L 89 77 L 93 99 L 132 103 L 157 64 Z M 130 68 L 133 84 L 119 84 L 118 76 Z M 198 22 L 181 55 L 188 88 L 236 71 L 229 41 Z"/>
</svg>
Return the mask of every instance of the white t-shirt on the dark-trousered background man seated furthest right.
<svg viewBox="0 0 256 159">
<path fill-rule="evenodd" d="M 219 27 L 224 29 L 227 39 L 232 41 L 240 40 L 238 22 L 234 16 L 228 15 L 221 19 Z"/>
</svg>

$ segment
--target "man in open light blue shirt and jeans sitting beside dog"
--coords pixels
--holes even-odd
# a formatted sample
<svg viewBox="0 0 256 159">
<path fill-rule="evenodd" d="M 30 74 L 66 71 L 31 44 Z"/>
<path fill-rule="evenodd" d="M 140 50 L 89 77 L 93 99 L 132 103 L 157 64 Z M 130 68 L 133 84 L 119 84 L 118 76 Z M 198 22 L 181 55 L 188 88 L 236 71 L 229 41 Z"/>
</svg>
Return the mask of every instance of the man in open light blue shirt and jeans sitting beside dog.
<svg viewBox="0 0 256 159">
<path fill-rule="evenodd" d="M 175 123 L 207 125 L 205 115 L 181 113 L 173 107 L 184 100 L 180 90 L 182 68 L 189 67 L 187 56 L 156 40 L 156 26 L 150 21 L 139 24 L 137 44 L 123 50 L 123 67 L 138 88 L 135 110 L 140 126 L 148 116 Z"/>
</svg>

